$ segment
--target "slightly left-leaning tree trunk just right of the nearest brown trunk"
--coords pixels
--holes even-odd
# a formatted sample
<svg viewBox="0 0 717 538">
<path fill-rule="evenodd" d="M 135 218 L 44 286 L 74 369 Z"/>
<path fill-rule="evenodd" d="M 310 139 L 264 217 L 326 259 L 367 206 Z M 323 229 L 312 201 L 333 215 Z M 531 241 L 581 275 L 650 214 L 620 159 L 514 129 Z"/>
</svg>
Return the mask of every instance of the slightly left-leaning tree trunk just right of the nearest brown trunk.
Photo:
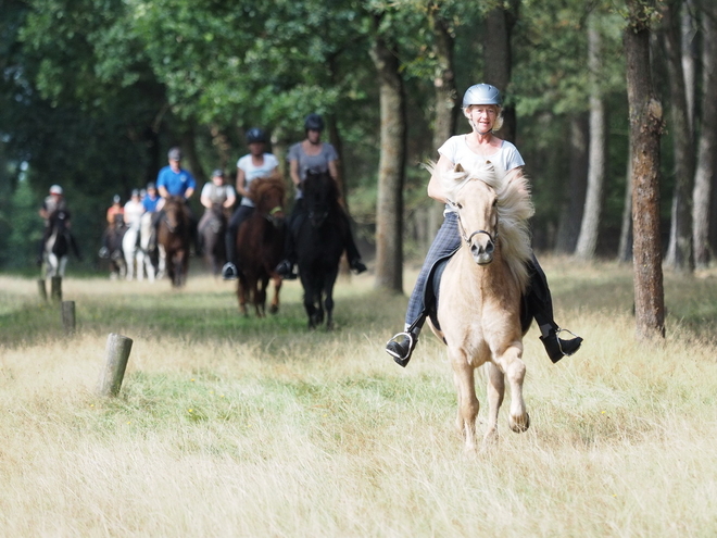
<svg viewBox="0 0 717 538">
<path fill-rule="evenodd" d="M 670 120 L 675 146 L 675 193 L 670 240 L 666 264 L 677 271 L 694 270 L 692 257 L 692 189 L 694 182 L 694 143 L 682 72 L 679 0 L 662 9 L 670 88 Z"/>
</svg>

